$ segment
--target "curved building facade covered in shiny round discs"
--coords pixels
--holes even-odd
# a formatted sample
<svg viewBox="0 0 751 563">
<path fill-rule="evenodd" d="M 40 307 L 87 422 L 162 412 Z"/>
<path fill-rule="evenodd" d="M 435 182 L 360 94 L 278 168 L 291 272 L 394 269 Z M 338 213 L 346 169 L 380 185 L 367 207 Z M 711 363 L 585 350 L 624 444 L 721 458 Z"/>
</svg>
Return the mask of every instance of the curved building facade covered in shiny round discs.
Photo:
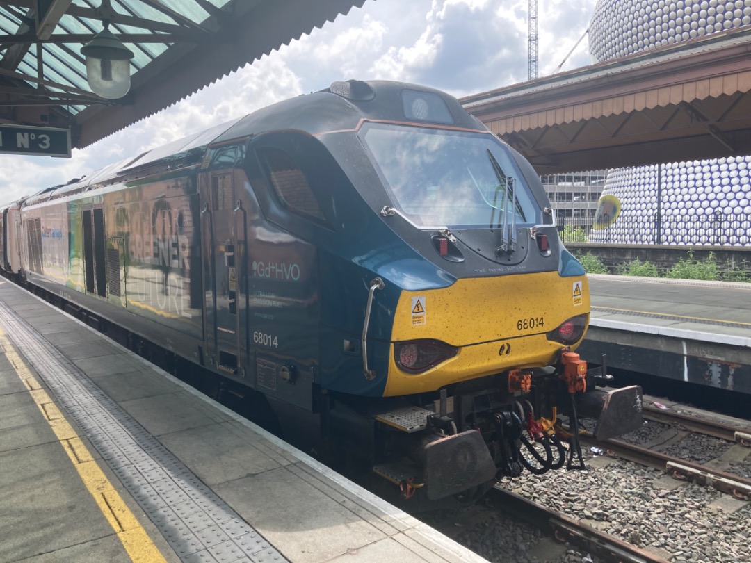
<svg viewBox="0 0 751 563">
<path fill-rule="evenodd" d="M 590 53 L 616 59 L 749 24 L 751 0 L 600 0 Z M 620 215 L 590 241 L 751 244 L 751 156 L 611 170 L 602 194 L 620 200 Z"/>
</svg>

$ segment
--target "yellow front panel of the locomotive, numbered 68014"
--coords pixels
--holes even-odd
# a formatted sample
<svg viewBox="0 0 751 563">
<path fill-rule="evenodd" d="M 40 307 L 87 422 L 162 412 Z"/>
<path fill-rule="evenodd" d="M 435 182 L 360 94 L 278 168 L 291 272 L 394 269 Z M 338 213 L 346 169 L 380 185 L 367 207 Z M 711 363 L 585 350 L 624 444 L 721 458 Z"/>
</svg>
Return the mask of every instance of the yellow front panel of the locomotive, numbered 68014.
<svg viewBox="0 0 751 563">
<path fill-rule="evenodd" d="M 413 375 L 399 369 L 392 344 L 384 395 L 422 393 L 508 369 L 547 366 L 562 345 L 547 340 L 546 333 L 589 312 L 586 276 L 563 278 L 558 272 L 463 278 L 448 288 L 404 291 L 391 341 L 435 339 L 459 353 Z"/>
</svg>

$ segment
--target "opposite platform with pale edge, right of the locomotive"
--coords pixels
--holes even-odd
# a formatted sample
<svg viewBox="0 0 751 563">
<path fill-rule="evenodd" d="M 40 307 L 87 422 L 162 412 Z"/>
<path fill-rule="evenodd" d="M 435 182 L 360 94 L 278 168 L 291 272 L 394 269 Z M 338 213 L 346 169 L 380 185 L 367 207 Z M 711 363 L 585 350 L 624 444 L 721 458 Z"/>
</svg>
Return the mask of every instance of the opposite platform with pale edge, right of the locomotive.
<svg viewBox="0 0 751 563">
<path fill-rule="evenodd" d="M 751 393 L 751 284 L 587 275 L 578 353 L 608 366 Z"/>
</svg>

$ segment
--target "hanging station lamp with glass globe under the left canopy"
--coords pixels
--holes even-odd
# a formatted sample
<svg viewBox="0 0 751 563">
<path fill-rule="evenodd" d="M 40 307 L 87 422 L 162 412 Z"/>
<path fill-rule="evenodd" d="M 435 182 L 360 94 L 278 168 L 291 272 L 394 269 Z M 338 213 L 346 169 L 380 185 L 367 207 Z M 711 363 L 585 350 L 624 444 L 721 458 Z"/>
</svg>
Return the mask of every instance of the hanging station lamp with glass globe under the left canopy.
<svg viewBox="0 0 751 563">
<path fill-rule="evenodd" d="M 81 54 L 86 57 L 86 80 L 92 92 L 115 100 L 131 89 L 130 60 L 134 55 L 107 29 L 109 26 L 104 21 L 104 29 L 81 47 Z"/>
</svg>

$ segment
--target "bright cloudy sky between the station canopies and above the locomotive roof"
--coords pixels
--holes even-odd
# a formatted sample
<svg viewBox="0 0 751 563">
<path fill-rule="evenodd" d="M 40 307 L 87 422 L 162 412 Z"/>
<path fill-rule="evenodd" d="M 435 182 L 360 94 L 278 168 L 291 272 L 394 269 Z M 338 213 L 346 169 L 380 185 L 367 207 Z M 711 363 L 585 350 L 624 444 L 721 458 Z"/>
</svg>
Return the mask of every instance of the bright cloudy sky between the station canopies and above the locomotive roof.
<svg viewBox="0 0 751 563">
<path fill-rule="evenodd" d="M 586 31 L 596 0 L 538 0 L 539 76 Z M 590 64 L 587 41 L 562 71 Z M 366 0 L 333 23 L 71 158 L 0 155 L 0 204 L 336 80 L 399 80 L 461 96 L 527 80 L 527 0 Z"/>
</svg>

